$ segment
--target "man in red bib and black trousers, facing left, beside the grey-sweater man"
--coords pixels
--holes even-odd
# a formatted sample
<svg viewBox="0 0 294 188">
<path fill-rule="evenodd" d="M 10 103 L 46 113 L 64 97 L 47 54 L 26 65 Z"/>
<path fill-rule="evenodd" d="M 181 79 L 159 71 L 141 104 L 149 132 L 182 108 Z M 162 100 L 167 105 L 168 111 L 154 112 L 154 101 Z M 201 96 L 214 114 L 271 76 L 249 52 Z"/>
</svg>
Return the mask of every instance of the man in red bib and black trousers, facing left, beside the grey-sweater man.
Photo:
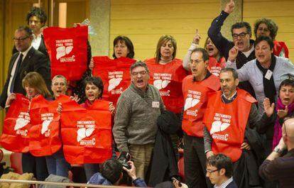
<svg viewBox="0 0 294 188">
<path fill-rule="evenodd" d="M 209 55 L 195 48 L 190 56 L 192 74 L 183 79 L 185 100 L 182 128 L 184 131 L 185 179 L 188 187 L 212 187 L 205 182 L 205 150 L 203 145 L 203 116 L 209 93 L 219 90 L 219 78 L 208 70 Z"/>
</svg>

